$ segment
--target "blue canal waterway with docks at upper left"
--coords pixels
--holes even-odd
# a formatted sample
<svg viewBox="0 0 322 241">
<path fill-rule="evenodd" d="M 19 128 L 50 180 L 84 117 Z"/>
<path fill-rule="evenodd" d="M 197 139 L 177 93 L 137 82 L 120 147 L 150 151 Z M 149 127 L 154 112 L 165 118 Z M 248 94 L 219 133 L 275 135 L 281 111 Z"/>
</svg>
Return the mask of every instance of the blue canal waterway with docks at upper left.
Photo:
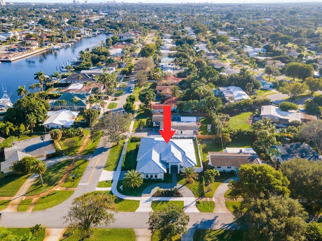
<svg viewBox="0 0 322 241">
<path fill-rule="evenodd" d="M 77 57 L 79 51 L 91 48 L 95 44 L 101 43 L 110 35 L 101 34 L 92 38 L 85 38 L 76 42 L 72 47 L 63 48 L 57 51 L 47 51 L 38 55 L 33 55 L 15 62 L 2 62 L 0 64 L 0 98 L 3 94 L 2 85 L 7 87 L 11 101 L 18 100 L 18 86 L 26 85 L 26 89 L 32 83 L 37 83 L 34 73 L 44 72 L 46 75 L 59 71 L 59 66 L 66 64 L 71 59 Z"/>
</svg>

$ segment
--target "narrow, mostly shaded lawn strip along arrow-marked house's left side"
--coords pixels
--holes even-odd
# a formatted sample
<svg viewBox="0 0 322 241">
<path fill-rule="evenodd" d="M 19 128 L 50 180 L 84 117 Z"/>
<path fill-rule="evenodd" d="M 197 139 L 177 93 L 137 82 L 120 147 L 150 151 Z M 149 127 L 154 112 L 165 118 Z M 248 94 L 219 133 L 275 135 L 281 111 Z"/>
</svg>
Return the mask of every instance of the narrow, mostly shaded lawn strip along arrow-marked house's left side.
<svg viewBox="0 0 322 241">
<path fill-rule="evenodd" d="M 131 170 L 136 168 L 136 157 L 140 141 L 141 139 L 136 137 L 129 139 L 125 160 L 122 163 L 122 170 Z"/>
</svg>

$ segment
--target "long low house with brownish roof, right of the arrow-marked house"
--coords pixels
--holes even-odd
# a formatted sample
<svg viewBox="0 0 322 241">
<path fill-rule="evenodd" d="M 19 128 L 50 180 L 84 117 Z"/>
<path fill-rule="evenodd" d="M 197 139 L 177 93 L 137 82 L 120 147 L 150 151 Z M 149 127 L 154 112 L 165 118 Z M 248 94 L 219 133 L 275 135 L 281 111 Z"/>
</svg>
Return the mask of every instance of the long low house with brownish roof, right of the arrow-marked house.
<svg viewBox="0 0 322 241">
<path fill-rule="evenodd" d="M 238 172 L 244 164 L 262 164 L 256 153 L 208 152 L 208 164 L 219 172 Z"/>
</svg>

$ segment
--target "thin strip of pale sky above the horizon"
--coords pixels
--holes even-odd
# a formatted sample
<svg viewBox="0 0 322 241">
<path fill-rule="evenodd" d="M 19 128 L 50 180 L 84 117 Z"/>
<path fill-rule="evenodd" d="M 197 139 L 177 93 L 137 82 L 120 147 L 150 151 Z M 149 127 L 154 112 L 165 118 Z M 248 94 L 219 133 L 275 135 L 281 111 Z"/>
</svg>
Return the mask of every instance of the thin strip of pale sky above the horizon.
<svg viewBox="0 0 322 241">
<path fill-rule="evenodd" d="M 84 3 L 85 0 L 77 0 L 79 3 Z M 72 3 L 72 0 L 5 0 L 6 3 Z M 110 1 L 105 0 L 88 0 L 88 3 L 106 3 Z M 180 3 L 211 3 L 211 0 L 116 0 L 116 3 L 173 3 L 173 4 L 180 4 Z M 232 4 L 232 3 L 322 3 L 322 0 L 212 0 L 212 4 L 220 3 L 220 4 Z"/>
</svg>

